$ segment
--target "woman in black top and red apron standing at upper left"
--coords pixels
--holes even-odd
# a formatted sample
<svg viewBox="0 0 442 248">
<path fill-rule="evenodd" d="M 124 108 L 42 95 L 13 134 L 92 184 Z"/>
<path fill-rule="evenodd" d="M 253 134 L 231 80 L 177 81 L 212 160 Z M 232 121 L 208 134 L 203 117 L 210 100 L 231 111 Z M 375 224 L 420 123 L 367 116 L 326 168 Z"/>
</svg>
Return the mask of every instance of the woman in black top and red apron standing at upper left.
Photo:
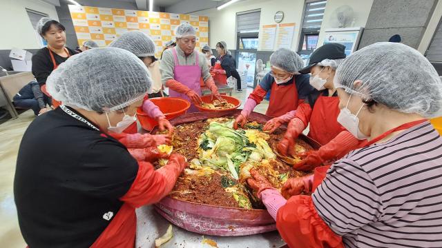
<svg viewBox="0 0 442 248">
<path fill-rule="evenodd" d="M 39 83 L 41 92 L 50 96 L 46 92 L 46 79 L 61 63 L 77 52 L 66 48 L 66 33 L 64 32 L 66 28 L 58 21 L 42 17 L 35 26 L 35 30 L 48 45 L 32 55 L 32 74 Z"/>
</svg>

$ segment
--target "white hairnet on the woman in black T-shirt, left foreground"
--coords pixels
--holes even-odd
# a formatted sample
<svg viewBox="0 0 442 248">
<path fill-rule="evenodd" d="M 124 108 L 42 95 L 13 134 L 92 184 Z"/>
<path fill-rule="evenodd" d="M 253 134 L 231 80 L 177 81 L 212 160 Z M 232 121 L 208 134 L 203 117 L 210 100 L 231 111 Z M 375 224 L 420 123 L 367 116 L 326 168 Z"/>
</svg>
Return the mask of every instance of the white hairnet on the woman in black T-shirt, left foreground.
<svg viewBox="0 0 442 248">
<path fill-rule="evenodd" d="M 151 87 L 151 76 L 131 52 L 95 48 L 61 63 L 48 76 L 46 87 L 54 99 L 66 105 L 113 111 L 142 99 Z"/>
</svg>

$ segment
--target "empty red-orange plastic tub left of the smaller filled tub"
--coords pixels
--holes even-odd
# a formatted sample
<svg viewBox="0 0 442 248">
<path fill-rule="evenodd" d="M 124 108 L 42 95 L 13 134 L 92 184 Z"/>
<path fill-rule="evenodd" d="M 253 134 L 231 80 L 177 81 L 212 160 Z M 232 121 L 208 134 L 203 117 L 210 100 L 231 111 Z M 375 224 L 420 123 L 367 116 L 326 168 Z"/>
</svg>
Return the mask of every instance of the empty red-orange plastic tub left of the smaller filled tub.
<svg viewBox="0 0 442 248">
<path fill-rule="evenodd" d="M 166 119 L 168 120 L 185 114 L 186 111 L 189 110 L 189 107 L 191 107 L 191 103 L 177 97 L 158 97 L 148 100 L 160 107 L 161 112 L 163 112 L 164 116 L 166 116 Z M 137 119 L 140 121 L 143 129 L 149 132 L 153 130 L 153 127 L 158 125 L 158 122 L 155 121 L 155 119 L 147 116 L 147 114 L 143 112 L 142 107 L 137 109 Z"/>
</svg>

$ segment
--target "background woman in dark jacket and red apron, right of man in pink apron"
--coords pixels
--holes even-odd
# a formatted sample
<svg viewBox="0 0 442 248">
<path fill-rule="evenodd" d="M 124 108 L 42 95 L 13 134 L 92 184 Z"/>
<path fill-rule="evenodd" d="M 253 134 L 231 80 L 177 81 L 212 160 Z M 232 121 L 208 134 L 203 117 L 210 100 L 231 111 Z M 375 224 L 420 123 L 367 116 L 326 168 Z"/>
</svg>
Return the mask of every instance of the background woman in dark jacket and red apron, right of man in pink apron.
<svg viewBox="0 0 442 248">
<path fill-rule="evenodd" d="M 211 68 L 211 72 L 215 74 L 213 80 L 215 83 L 227 85 L 227 79 L 233 76 L 236 79 L 237 92 L 242 92 L 240 74 L 236 70 L 235 59 L 232 58 L 230 51 L 227 49 L 227 44 L 224 41 L 216 43 L 216 52 L 218 52 L 218 58 L 216 58 L 215 65 Z"/>
</svg>

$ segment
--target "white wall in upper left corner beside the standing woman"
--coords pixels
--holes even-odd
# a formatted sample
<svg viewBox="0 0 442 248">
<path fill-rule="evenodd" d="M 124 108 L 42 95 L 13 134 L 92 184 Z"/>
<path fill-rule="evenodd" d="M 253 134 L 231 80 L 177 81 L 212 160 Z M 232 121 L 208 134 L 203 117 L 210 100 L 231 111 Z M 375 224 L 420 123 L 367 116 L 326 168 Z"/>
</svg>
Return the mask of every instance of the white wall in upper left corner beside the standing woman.
<svg viewBox="0 0 442 248">
<path fill-rule="evenodd" d="M 58 20 L 55 6 L 40 0 L 2 0 L 0 3 L 0 50 L 12 47 L 38 49 L 35 35 L 25 8 L 48 14 Z"/>
</svg>

